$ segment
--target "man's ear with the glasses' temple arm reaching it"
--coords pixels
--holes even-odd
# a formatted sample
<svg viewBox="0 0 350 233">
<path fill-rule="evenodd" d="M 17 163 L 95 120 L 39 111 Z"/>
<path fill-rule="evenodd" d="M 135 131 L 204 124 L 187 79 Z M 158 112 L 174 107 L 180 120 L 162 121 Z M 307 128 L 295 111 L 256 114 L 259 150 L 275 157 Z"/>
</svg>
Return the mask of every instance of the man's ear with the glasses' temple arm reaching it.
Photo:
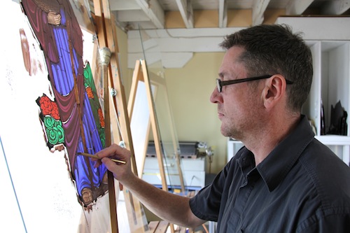
<svg viewBox="0 0 350 233">
<path fill-rule="evenodd" d="M 262 90 L 262 99 L 265 108 L 273 108 L 281 101 L 281 98 L 286 94 L 286 79 L 275 74 L 265 81 L 265 87 Z"/>
</svg>

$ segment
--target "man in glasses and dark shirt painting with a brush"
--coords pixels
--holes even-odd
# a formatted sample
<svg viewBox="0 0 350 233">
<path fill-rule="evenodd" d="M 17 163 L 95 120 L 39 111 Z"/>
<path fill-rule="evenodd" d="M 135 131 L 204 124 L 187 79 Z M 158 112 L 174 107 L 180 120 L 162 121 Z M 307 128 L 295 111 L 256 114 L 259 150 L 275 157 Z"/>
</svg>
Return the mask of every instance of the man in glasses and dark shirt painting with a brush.
<svg viewBox="0 0 350 233">
<path fill-rule="evenodd" d="M 213 183 L 188 199 L 141 181 L 130 152 L 97 153 L 151 211 L 171 223 L 218 222 L 217 232 L 350 232 L 350 168 L 314 139 L 300 113 L 312 79 L 311 52 L 286 25 L 243 29 L 226 53 L 211 102 L 221 132 L 244 143 Z"/>
</svg>

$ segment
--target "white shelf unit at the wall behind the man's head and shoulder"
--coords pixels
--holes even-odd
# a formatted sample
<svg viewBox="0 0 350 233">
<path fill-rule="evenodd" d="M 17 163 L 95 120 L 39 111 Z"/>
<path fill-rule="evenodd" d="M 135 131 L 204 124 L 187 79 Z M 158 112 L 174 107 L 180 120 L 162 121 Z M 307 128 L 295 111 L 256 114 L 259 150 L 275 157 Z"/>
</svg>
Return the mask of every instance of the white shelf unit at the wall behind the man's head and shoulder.
<svg viewBox="0 0 350 233">
<path fill-rule="evenodd" d="M 325 129 L 330 126 L 331 106 L 340 101 L 344 111 L 350 109 L 350 41 L 307 41 L 313 57 L 314 77 L 309 97 L 302 108 L 316 128 L 315 138 L 328 146 L 346 164 L 350 163 L 349 117 L 346 136 L 321 135 L 321 103 L 325 116 Z M 243 144 L 228 141 L 228 160 Z"/>
</svg>

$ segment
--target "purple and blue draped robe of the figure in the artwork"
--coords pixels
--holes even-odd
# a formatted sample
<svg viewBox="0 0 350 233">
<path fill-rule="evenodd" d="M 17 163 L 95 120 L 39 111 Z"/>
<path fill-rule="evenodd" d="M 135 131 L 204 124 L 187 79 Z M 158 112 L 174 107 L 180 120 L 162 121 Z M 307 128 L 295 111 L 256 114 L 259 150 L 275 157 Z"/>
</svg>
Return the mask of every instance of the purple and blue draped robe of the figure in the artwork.
<svg viewBox="0 0 350 233">
<path fill-rule="evenodd" d="M 85 91 L 83 34 L 69 0 L 22 0 L 22 7 L 45 55 L 64 129 L 69 168 L 80 200 L 86 206 L 104 195 L 107 186 L 103 184 L 106 167 L 96 169 L 88 157 L 77 155 L 94 154 L 104 146 Z M 49 13 L 60 15 L 58 24 L 49 23 Z"/>
</svg>

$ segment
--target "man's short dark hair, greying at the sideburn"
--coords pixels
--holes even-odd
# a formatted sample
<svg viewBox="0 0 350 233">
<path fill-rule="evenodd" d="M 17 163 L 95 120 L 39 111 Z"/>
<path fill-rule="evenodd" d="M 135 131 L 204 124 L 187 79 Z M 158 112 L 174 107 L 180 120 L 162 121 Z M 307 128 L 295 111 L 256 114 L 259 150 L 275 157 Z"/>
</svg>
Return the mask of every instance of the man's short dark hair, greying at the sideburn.
<svg viewBox="0 0 350 233">
<path fill-rule="evenodd" d="M 288 107 L 301 111 L 312 82 L 312 56 L 300 34 L 293 34 L 286 24 L 258 25 L 225 37 L 220 44 L 226 50 L 239 46 L 239 57 L 248 76 L 281 74 L 293 81 L 287 85 Z"/>
</svg>

